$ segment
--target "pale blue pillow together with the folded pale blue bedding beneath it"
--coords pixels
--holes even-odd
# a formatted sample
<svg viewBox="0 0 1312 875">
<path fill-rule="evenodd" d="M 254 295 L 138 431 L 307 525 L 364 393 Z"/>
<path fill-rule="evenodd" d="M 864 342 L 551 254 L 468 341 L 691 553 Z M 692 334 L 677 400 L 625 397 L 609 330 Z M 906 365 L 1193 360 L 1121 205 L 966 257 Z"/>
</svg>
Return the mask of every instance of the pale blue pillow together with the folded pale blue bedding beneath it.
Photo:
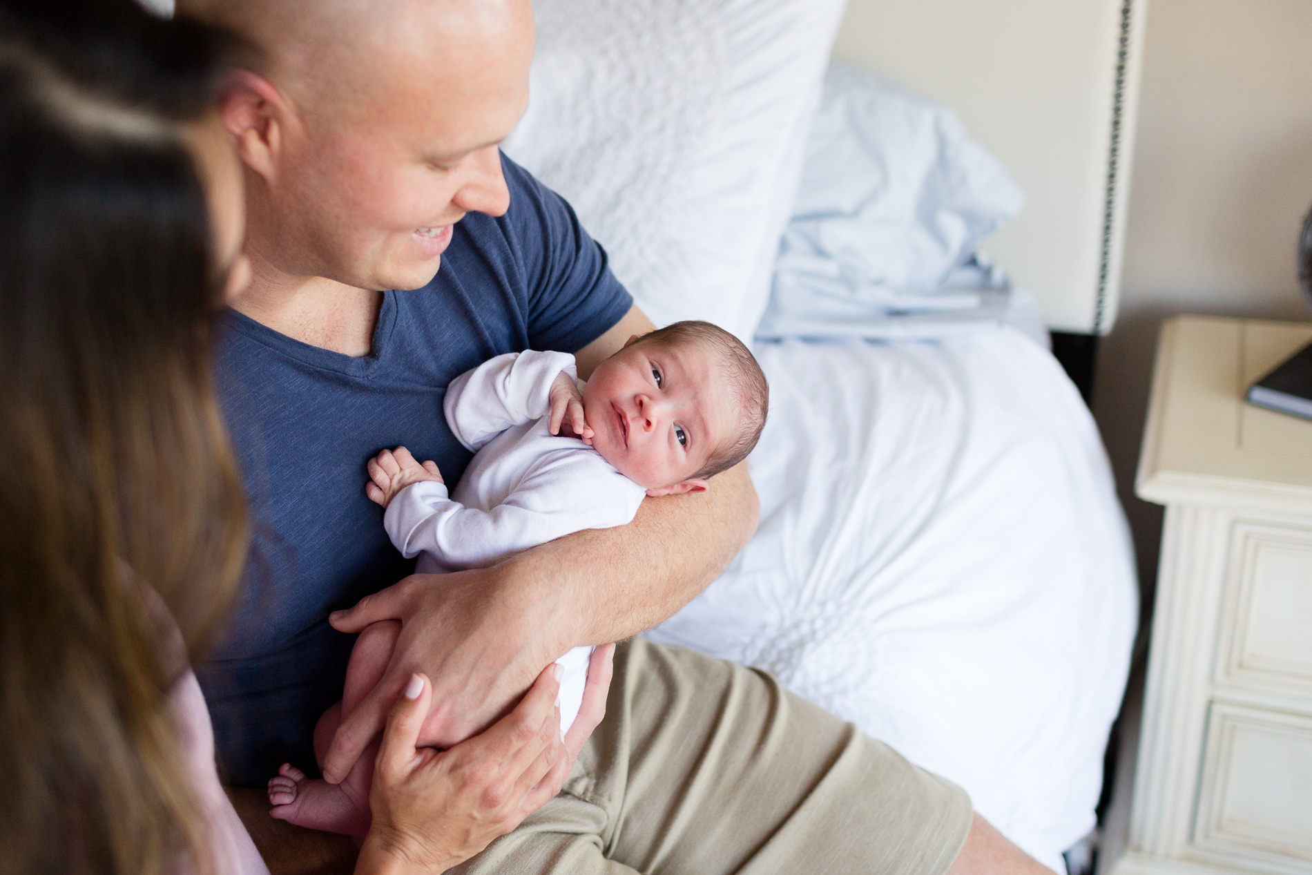
<svg viewBox="0 0 1312 875">
<path fill-rule="evenodd" d="M 946 106 L 833 64 L 757 337 L 935 338 L 1038 307 L 976 245 L 1025 194 Z"/>
</svg>

